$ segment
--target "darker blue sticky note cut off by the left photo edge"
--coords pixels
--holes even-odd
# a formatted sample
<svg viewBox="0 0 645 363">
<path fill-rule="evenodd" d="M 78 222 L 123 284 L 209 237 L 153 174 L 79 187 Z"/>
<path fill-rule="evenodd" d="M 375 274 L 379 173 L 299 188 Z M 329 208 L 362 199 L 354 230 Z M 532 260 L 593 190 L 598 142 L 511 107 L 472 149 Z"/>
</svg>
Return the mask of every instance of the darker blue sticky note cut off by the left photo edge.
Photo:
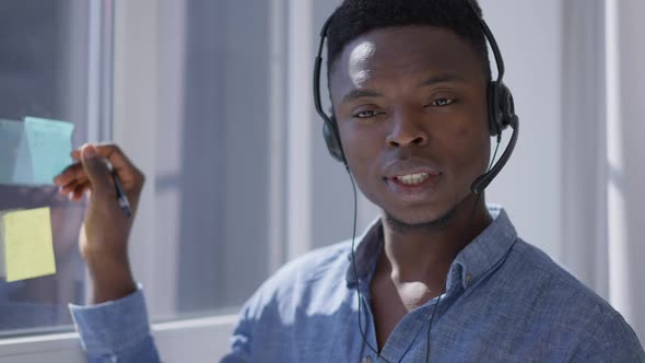
<svg viewBox="0 0 645 363">
<path fill-rule="evenodd" d="M 32 184 L 32 159 L 22 121 L 0 119 L 0 184 Z"/>
</svg>

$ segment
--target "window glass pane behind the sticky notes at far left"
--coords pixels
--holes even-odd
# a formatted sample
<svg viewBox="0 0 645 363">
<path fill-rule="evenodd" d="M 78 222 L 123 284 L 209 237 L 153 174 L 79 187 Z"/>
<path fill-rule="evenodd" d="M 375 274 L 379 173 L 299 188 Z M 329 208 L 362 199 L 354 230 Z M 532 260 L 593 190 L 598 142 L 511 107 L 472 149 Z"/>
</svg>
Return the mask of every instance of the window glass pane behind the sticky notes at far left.
<svg viewBox="0 0 645 363">
<path fill-rule="evenodd" d="M 26 116 L 74 124 L 73 147 L 89 138 L 90 2 L 0 1 L 0 119 Z M 97 85 L 92 85 L 97 86 Z M 50 207 L 57 273 L 0 279 L 0 336 L 69 328 L 69 302 L 85 300 L 77 238 L 84 206 L 56 187 L 0 185 L 0 211 Z M 36 330 L 34 330 L 36 329 Z"/>
</svg>

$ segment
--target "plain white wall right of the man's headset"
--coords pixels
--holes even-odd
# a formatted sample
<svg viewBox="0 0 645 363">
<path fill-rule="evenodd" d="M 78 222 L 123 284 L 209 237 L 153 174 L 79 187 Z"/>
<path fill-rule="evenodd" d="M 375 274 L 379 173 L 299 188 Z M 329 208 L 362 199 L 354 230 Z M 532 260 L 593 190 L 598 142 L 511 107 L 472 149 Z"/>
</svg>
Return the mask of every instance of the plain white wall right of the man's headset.
<svg viewBox="0 0 645 363">
<path fill-rule="evenodd" d="M 488 189 L 518 234 L 560 260 L 562 2 L 480 0 L 519 116 L 513 157 Z M 505 140 L 509 138 L 505 136 Z"/>
</svg>

